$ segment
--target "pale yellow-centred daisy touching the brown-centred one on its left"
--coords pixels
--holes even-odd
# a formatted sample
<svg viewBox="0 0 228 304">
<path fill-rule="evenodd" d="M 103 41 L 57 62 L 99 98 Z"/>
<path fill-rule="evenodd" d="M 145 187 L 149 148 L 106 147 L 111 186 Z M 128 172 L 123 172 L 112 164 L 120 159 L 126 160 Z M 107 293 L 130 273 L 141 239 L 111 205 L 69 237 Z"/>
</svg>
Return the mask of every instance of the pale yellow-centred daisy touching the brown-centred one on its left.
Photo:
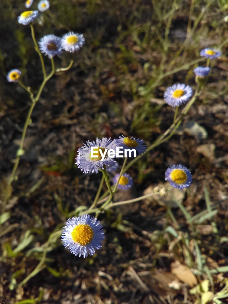
<svg viewBox="0 0 228 304">
<path fill-rule="evenodd" d="M 62 37 L 61 43 L 65 51 L 74 53 L 83 46 L 85 38 L 83 37 L 83 34 L 69 32 Z"/>
</svg>

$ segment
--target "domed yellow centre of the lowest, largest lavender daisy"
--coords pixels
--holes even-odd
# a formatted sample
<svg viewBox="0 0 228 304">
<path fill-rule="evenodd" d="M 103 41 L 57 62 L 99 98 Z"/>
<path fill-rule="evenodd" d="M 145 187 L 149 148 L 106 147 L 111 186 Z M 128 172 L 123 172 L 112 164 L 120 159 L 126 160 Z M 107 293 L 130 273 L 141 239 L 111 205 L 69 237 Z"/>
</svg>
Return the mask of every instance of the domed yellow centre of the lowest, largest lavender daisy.
<svg viewBox="0 0 228 304">
<path fill-rule="evenodd" d="M 72 240 L 82 246 L 89 244 L 93 238 L 93 230 L 88 224 L 79 224 L 71 232 Z"/>
</svg>

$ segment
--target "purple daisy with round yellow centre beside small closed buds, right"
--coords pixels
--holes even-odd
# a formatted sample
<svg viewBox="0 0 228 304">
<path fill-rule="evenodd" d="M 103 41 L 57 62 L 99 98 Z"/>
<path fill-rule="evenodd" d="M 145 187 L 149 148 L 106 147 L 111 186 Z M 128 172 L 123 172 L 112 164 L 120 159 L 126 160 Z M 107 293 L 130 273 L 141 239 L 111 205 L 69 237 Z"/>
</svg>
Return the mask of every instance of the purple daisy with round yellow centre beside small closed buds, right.
<svg viewBox="0 0 228 304">
<path fill-rule="evenodd" d="M 165 171 L 165 180 L 174 188 L 188 188 L 192 183 L 192 174 L 185 166 L 172 165 Z"/>
</svg>

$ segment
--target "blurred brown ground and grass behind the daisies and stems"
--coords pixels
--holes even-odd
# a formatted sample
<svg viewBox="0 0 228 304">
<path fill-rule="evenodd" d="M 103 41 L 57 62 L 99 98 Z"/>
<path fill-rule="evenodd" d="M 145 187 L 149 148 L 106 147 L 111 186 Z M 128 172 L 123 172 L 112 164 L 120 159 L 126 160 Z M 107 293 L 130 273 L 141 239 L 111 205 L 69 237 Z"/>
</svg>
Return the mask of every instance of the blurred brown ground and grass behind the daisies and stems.
<svg viewBox="0 0 228 304">
<path fill-rule="evenodd" d="M 34 0 L 31 9 L 37 3 Z M 227 8 L 226 0 L 52 0 L 50 9 L 36 19 L 37 40 L 72 30 L 83 33 L 85 45 L 75 54 L 55 57 L 57 67 L 71 59 L 74 64 L 50 79 L 32 114 L 7 219 L 0 220 L 0 303 L 206 304 L 201 302 L 204 293 L 216 295 L 226 286 Z M 7 82 L 6 74 L 18 68 L 23 83 L 34 92 L 42 82 L 30 27 L 17 22 L 24 10 L 22 1 L 1 0 L 2 200 L 30 105 L 28 93 Z M 165 89 L 180 82 L 195 90 L 193 68 L 206 65 L 199 56 L 205 47 L 222 50 L 212 61 L 207 87 L 178 133 L 128 170 L 134 187 L 119 191 L 115 199 L 135 198 L 163 186 L 167 167 L 179 163 L 193 175 L 188 191 L 101 214 L 105 241 L 92 257 L 74 257 L 60 238 L 44 249 L 50 234 L 76 216 L 78 207 L 91 206 L 96 195 L 101 174 L 77 169 L 78 148 L 97 136 L 121 134 L 141 138 L 149 146 L 173 122 L 174 109 L 163 100 Z M 44 59 L 49 71 L 50 60 Z M 208 216 L 194 222 L 193 229 L 175 200 L 195 216 L 207 208 L 205 197 L 216 210 L 213 221 Z M 176 222 L 167 217 L 167 206 L 173 207 Z M 20 285 L 40 261 L 40 271 Z M 209 271 L 219 267 L 223 271 Z M 198 274 L 190 269 L 198 269 Z M 208 288 L 190 292 L 205 280 Z"/>
</svg>

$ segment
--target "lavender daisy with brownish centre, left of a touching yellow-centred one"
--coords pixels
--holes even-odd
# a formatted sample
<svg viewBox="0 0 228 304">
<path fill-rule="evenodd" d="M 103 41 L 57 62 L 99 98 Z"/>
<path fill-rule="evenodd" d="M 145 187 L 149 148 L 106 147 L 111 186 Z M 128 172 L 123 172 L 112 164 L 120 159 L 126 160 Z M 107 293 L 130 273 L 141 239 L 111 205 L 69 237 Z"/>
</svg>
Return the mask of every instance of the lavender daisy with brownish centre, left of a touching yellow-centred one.
<svg viewBox="0 0 228 304">
<path fill-rule="evenodd" d="M 43 36 L 39 41 L 40 51 L 49 58 L 62 54 L 61 38 L 55 35 Z"/>
</svg>

